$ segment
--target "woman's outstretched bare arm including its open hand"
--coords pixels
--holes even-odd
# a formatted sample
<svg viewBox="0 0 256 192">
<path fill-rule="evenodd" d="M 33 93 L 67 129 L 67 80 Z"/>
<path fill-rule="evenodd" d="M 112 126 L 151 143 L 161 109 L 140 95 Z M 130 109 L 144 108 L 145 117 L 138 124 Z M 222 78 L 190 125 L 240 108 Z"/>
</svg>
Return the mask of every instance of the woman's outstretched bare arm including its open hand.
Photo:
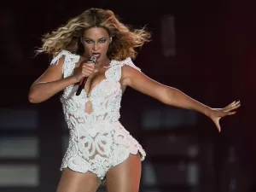
<svg viewBox="0 0 256 192">
<path fill-rule="evenodd" d="M 191 109 L 199 113 L 203 113 L 212 119 L 217 126 L 218 131 L 220 131 L 219 119 L 226 115 L 236 113 L 232 110 L 240 106 L 240 102 L 232 102 L 225 108 L 210 108 L 187 96 L 181 90 L 166 86 L 165 84 L 160 84 L 129 66 L 122 67 L 122 84 L 128 85 L 143 94 L 154 97 L 167 105 L 172 105 L 177 108 Z"/>
</svg>

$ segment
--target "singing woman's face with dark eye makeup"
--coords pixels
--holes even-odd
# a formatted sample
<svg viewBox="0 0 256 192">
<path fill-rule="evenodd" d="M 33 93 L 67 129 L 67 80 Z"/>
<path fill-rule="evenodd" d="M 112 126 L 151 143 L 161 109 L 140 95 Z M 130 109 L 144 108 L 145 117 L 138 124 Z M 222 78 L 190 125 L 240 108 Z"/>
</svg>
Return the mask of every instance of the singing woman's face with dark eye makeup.
<svg viewBox="0 0 256 192">
<path fill-rule="evenodd" d="M 107 59 L 110 37 L 106 29 L 102 27 L 92 27 L 84 31 L 81 43 L 84 45 L 85 56 L 90 57 L 94 55 L 97 61 Z"/>
</svg>

